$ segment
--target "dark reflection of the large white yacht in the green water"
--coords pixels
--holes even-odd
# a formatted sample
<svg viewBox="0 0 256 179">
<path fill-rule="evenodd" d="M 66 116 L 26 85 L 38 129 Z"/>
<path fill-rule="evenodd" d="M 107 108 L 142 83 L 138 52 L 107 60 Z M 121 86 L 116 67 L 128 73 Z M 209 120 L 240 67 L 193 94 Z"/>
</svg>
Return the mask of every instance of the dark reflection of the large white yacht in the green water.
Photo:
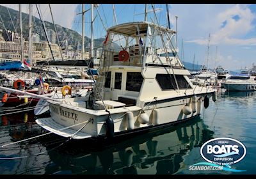
<svg viewBox="0 0 256 179">
<path fill-rule="evenodd" d="M 200 118 L 164 130 L 127 139 L 104 148 L 95 141 L 73 141 L 49 150 L 52 163 L 45 174 L 173 174 L 183 155 L 212 138 Z M 93 152 L 92 152 L 93 151 Z"/>
</svg>

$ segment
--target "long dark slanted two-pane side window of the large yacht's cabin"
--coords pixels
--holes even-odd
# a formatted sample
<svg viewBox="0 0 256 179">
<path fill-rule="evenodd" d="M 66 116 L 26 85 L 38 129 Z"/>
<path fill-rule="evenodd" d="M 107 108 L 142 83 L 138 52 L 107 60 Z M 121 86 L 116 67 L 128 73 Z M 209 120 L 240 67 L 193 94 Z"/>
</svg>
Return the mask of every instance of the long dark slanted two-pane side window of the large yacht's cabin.
<svg viewBox="0 0 256 179">
<path fill-rule="evenodd" d="M 190 89 L 191 86 L 183 75 L 175 75 L 179 89 Z M 176 82 L 173 75 L 169 74 L 157 74 L 156 80 L 161 86 L 161 89 L 177 89 Z"/>
</svg>

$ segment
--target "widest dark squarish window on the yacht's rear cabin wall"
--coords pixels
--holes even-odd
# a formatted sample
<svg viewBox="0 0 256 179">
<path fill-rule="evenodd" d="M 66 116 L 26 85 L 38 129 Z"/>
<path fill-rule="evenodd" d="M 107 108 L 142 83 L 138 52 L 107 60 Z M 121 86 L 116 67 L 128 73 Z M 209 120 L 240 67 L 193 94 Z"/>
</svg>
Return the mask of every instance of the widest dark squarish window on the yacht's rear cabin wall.
<svg viewBox="0 0 256 179">
<path fill-rule="evenodd" d="M 139 72 L 127 72 L 126 90 L 140 92 L 143 77 Z"/>
</svg>

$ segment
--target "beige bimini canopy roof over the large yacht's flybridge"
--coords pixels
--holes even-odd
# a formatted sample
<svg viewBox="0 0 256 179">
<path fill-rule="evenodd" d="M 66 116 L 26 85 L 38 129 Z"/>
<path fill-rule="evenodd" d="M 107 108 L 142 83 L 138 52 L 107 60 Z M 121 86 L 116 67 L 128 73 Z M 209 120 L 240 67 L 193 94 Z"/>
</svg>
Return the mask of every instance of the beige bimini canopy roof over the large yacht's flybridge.
<svg viewBox="0 0 256 179">
<path fill-rule="evenodd" d="M 127 22 L 124 24 L 119 24 L 119 25 L 110 27 L 108 31 L 118 33 L 121 35 L 136 36 L 138 35 L 137 27 L 139 27 L 140 33 L 147 33 L 148 25 L 159 27 L 160 29 L 163 29 L 164 31 L 168 31 L 170 33 L 176 33 L 172 29 L 168 29 L 167 27 L 163 27 L 163 26 L 157 26 L 156 24 L 153 24 L 151 22 Z"/>
</svg>

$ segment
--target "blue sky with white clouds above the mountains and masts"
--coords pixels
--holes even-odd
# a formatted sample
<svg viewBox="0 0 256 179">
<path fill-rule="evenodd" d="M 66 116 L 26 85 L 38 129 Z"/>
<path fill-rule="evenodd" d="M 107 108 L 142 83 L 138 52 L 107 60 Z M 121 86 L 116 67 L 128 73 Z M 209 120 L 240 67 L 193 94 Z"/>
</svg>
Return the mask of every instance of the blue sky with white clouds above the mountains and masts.
<svg viewBox="0 0 256 179">
<path fill-rule="evenodd" d="M 19 10 L 18 4 L 1 4 Z M 172 29 L 176 29 L 179 53 L 182 42 L 184 58 L 182 61 L 207 65 L 207 44 L 209 41 L 209 68 L 222 65 L 228 70 L 239 70 L 256 65 L 256 4 L 168 4 Z M 154 4 L 157 20 L 162 26 L 167 26 L 166 4 Z M 43 19 L 52 22 L 48 4 L 40 4 Z M 74 29 L 81 34 L 81 4 L 51 4 L 54 22 L 61 26 Z M 84 9 L 90 9 L 90 4 L 84 4 Z M 104 38 L 106 28 L 115 25 L 113 5 L 99 4 L 94 10 L 94 38 Z M 148 11 L 152 4 L 148 4 Z M 28 4 L 22 4 L 22 12 L 28 13 Z M 116 21 L 143 21 L 145 4 L 115 4 Z M 36 17 L 34 4 L 33 13 Z M 90 37 L 90 10 L 85 13 L 85 35 Z M 100 20 L 103 19 L 104 26 Z M 148 21 L 156 22 L 154 13 L 148 13 Z M 217 50 L 216 50 L 217 49 Z M 181 56 L 181 54 L 180 54 Z"/>
</svg>

